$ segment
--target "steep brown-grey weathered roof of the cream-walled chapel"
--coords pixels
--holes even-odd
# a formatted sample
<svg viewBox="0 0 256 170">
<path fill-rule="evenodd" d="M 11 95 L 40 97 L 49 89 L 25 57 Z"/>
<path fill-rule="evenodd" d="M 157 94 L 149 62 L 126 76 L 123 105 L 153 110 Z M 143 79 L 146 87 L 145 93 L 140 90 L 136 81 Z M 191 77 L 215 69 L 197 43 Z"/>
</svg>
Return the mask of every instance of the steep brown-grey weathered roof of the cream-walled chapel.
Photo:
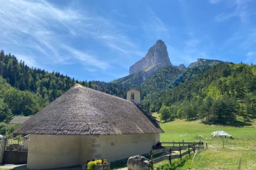
<svg viewBox="0 0 256 170">
<path fill-rule="evenodd" d="M 14 131 L 41 135 L 129 135 L 163 132 L 132 103 L 75 84 Z"/>
</svg>

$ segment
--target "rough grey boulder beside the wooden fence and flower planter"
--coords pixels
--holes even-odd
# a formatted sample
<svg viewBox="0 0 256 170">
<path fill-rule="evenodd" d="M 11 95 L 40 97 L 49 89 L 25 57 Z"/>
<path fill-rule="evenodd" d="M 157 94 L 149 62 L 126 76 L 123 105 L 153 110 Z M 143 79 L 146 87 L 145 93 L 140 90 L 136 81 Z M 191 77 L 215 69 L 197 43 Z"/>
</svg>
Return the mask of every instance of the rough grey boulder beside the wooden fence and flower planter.
<svg viewBox="0 0 256 170">
<path fill-rule="evenodd" d="M 130 157 L 127 162 L 128 170 L 144 170 L 150 166 L 149 159 L 141 155 Z"/>
</svg>

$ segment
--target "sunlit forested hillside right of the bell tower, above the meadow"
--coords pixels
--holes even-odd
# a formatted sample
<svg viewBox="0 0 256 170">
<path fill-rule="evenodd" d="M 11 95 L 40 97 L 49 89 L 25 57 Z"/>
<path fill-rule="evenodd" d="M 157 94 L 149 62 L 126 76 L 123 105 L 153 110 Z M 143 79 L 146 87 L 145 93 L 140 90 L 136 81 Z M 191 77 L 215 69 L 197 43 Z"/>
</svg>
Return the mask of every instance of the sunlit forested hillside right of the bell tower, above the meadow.
<svg viewBox="0 0 256 170">
<path fill-rule="evenodd" d="M 256 66 L 220 63 L 195 79 L 165 91 L 150 108 L 169 118 L 230 123 L 256 118 Z M 167 109 L 166 109 L 167 108 Z"/>
</svg>

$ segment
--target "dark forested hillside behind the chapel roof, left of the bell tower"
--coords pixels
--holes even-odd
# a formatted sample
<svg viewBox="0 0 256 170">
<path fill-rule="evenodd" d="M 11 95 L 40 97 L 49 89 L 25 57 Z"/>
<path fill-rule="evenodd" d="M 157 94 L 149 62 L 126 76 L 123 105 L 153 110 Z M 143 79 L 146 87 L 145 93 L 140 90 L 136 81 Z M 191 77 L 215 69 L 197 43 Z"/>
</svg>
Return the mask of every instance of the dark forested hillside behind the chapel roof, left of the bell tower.
<svg viewBox="0 0 256 170">
<path fill-rule="evenodd" d="M 13 115 L 33 115 L 79 83 L 98 91 L 126 97 L 126 89 L 101 81 L 78 81 L 59 72 L 28 67 L 14 55 L 0 52 L 0 121 Z"/>
</svg>

